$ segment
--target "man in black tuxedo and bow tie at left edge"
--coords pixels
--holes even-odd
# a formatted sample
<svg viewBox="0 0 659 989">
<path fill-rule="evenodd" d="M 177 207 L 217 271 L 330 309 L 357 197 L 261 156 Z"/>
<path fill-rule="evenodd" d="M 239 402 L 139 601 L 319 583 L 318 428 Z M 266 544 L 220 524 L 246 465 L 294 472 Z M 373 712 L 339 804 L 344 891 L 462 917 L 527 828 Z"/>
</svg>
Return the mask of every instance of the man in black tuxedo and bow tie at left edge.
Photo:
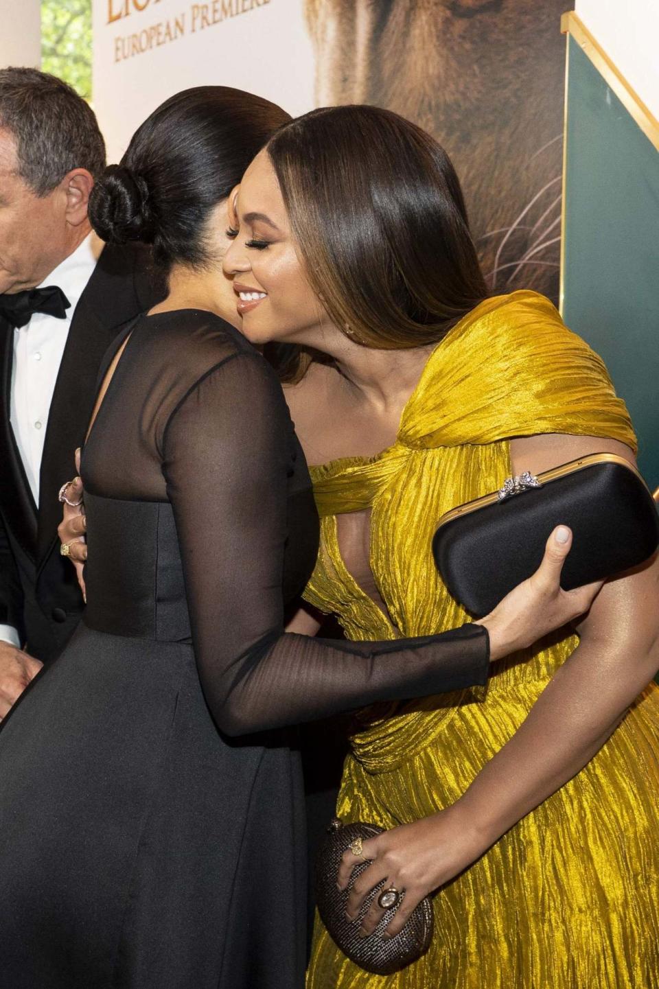
<svg viewBox="0 0 659 989">
<path fill-rule="evenodd" d="M 147 248 L 103 246 L 91 230 L 104 167 L 96 118 L 74 90 L 37 69 L 0 70 L 0 717 L 80 619 L 57 494 L 103 354 L 164 295 Z"/>
</svg>

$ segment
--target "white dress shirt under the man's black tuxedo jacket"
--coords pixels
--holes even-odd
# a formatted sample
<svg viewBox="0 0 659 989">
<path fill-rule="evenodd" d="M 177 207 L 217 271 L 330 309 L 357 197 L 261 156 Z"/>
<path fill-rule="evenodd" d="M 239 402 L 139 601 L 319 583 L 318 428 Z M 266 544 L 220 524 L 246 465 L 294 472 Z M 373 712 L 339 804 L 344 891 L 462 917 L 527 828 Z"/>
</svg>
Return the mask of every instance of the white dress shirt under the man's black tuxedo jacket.
<svg viewBox="0 0 659 989">
<path fill-rule="evenodd" d="M 35 313 L 29 323 L 14 329 L 10 421 L 37 506 L 52 393 L 71 319 L 96 261 L 93 234 L 89 233 L 73 253 L 37 286 L 41 289 L 56 285 L 62 290 L 71 304 L 66 316 L 57 319 L 45 313 Z M 0 625 L 0 639 L 20 646 L 18 633 L 11 625 Z"/>
</svg>

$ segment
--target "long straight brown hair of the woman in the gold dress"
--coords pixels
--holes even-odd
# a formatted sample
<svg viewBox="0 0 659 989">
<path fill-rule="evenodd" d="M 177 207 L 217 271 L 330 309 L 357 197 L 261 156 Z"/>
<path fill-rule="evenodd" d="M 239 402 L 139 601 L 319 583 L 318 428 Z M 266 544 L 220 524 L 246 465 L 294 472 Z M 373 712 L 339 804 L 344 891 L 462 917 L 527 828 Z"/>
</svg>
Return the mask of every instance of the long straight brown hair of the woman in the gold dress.
<svg viewBox="0 0 659 989">
<path fill-rule="evenodd" d="M 438 341 L 487 297 L 457 175 L 421 128 L 377 107 L 329 107 L 267 150 L 310 283 L 352 339 Z"/>
</svg>

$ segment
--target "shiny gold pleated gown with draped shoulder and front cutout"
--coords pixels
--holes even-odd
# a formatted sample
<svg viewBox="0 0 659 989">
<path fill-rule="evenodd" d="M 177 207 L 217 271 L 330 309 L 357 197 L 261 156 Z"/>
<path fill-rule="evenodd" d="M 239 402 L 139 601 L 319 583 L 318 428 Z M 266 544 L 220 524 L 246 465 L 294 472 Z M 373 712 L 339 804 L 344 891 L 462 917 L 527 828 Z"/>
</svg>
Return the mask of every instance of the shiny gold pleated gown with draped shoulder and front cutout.
<svg viewBox="0 0 659 989">
<path fill-rule="evenodd" d="M 335 613 L 349 639 L 461 625 L 468 617 L 431 559 L 437 519 L 501 486 L 512 473 L 512 437 L 548 432 L 635 448 L 602 360 L 553 306 L 532 292 L 488 300 L 432 352 L 392 447 L 312 470 L 322 544 L 305 596 Z M 338 550 L 335 515 L 368 508 L 371 568 L 391 621 Z M 484 697 L 467 690 L 361 712 L 337 813 L 393 828 L 453 803 L 576 646 L 570 636 L 529 651 L 526 662 L 500 664 Z M 586 768 L 438 892 L 423 958 L 396 975 L 371 975 L 345 958 L 317 918 L 308 987 L 654 989 L 658 819 L 652 683 Z"/>
</svg>

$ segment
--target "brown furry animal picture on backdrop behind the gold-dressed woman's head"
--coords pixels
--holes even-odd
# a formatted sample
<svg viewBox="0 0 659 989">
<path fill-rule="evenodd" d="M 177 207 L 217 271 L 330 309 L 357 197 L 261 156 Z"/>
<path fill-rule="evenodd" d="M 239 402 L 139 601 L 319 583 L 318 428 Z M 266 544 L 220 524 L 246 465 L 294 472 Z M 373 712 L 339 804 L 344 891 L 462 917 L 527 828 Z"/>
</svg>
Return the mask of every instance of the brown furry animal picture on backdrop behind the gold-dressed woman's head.
<svg viewBox="0 0 659 989">
<path fill-rule="evenodd" d="M 450 154 L 494 292 L 558 298 L 564 0 L 305 0 L 316 102 L 371 103 Z"/>
</svg>

